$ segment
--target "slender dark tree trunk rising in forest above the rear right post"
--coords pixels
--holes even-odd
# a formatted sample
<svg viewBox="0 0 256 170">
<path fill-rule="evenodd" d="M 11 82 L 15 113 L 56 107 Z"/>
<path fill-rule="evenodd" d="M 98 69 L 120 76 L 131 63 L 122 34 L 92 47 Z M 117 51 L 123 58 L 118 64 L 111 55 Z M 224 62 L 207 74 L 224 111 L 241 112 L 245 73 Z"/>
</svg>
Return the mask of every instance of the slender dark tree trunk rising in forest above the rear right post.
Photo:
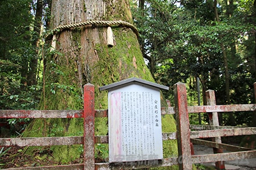
<svg viewBox="0 0 256 170">
<path fill-rule="evenodd" d="M 220 22 L 218 17 L 218 8 L 217 8 L 217 0 L 214 0 L 214 14 L 217 22 Z M 226 104 L 230 104 L 230 94 L 229 94 L 229 67 L 228 67 L 228 56 L 226 54 L 226 49 L 224 43 L 221 41 L 221 50 L 223 53 L 223 61 L 224 61 L 224 70 L 225 70 L 225 92 L 226 92 Z M 236 125 L 236 121 L 234 115 L 232 113 L 228 113 L 230 125 Z"/>
</svg>

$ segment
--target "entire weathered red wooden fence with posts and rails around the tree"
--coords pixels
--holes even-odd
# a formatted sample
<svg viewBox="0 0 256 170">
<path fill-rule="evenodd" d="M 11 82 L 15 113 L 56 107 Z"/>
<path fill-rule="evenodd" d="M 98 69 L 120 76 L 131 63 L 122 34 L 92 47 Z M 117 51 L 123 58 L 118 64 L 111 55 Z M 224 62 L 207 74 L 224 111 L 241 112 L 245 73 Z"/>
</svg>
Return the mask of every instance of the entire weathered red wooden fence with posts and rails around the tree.
<svg viewBox="0 0 256 170">
<path fill-rule="evenodd" d="M 255 83 L 254 83 L 254 87 Z M 224 169 L 224 161 L 256 158 L 256 150 L 226 145 L 221 137 L 256 134 L 256 128 L 238 128 L 218 126 L 217 112 L 255 111 L 256 104 L 216 105 L 214 91 L 207 91 L 209 105 L 187 106 L 185 84 L 176 83 L 174 88 L 175 106 L 162 108 L 162 114 L 175 114 L 177 132 L 163 133 L 163 140 L 177 139 L 178 152 L 175 158 L 164 158 L 159 161 L 95 163 L 94 143 L 108 143 L 108 136 L 94 136 L 94 117 L 108 117 L 108 110 L 94 109 L 94 86 L 84 86 L 84 109 L 77 111 L 13 111 L 0 110 L 0 118 L 84 118 L 84 136 L 81 137 L 41 137 L 41 138 L 0 138 L 0 146 L 52 146 L 52 145 L 84 145 L 84 163 L 57 165 L 47 167 L 26 167 L 15 169 L 139 169 L 149 167 L 166 167 L 179 164 L 180 169 L 192 169 L 192 164 L 216 162 L 216 167 Z M 188 113 L 208 113 L 210 125 L 189 125 Z M 195 131 L 191 131 L 195 130 Z M 202 138 L 213 138 L 205 141 Z M 190 143 L 213 147 L 214 154 L 192 155 Z M 222 150 L 232 152 L 222 153 Z"/>
</svg>

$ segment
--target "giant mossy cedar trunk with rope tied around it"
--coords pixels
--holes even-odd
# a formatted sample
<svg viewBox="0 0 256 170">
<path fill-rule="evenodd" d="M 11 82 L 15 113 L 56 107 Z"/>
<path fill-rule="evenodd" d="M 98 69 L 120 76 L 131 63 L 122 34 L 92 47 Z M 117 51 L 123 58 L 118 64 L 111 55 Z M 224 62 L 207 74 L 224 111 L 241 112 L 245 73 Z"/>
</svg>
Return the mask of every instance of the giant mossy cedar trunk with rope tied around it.
<svg viewBox="0 0 256 170">
<path fill-rule="evenodd" d="M 51 29 L 89 20 L 133 22 L 128 0 L 52 0 L 51 15 Z M 89 25 L 65 29 L 56 35 L 55 53 L 46 57 L 45 95 L 39 109 L 82 109 L 82 87 L 86 83 L 95 86 L 96 109 L 107 109 L 107 92 L 99 92 L 98 87 L 133 76 L 154 81 L 144 63 L 134 31 L 122 26 L 113 27 L 112 30 L 114 46 L 107 45 L 106 27 Z M 170 120 L 167 125 L 175 131 L 175 121 L 172 117 Z M 106 122 L 96 120 L 96 124 Z M 105 135 L 106 130 L 106 126 L 99 125 L 96 134 Z M 32 122 L 24 134 L 81 135 L 82 120 L 38 120 Z M 171 147 L 176 152 L 176 146 Z M 79 146 L 53 146 L 51 150 L 55 159 L 62 163 L 80 156 Z"/>
</svg>

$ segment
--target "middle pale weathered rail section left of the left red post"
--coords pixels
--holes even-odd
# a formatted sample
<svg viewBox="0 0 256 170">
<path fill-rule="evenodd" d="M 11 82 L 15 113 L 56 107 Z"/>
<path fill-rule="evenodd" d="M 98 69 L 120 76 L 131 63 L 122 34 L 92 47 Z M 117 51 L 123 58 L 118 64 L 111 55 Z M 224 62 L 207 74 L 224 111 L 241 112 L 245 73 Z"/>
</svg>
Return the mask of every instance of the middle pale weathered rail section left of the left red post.
<svg viewBox="0 0 256 170">
<path fill-rule="evenodd" d="M 0 146 L 53 146 L 83 144 L 83 137 L 0 138 Z"/>
</svg>

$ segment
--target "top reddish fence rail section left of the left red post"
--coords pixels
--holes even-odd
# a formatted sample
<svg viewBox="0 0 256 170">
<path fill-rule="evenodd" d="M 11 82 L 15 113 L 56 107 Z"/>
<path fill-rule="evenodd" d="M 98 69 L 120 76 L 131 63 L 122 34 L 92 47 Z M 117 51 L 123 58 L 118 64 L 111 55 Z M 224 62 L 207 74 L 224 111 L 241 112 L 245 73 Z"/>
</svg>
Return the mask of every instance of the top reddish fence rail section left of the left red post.
<svg viewBox="0 0 256 170">
<path fill-rule="evenodd" d="M 83 110 L 0 110 L 0 118 L 80 118 Z"/>
</svg>

